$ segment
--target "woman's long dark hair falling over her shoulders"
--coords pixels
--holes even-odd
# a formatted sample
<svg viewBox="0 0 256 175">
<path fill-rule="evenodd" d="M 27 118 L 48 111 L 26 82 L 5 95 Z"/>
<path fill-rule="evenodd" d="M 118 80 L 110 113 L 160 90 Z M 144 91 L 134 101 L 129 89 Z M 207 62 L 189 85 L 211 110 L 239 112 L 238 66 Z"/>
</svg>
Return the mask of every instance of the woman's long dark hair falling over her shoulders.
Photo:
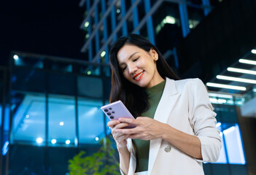
<svg viewBox="0 0 256 175">
<path fill-rule="evenodd" d="M 118 100 L 123 101 L 123 104 L 125 104 L 131 114 L 133 114 L 134 117 L 138 117 L 142 112 L 149 109 L 149 103 L 144 88 L 134 85 L 125 79 L 123 76 L 123 71 L 120 69 L 117 61 L 117 52 L 125 44 L 134 45 L 142 50 L 145 50 L 146 52 L 150 52 L 151 48 L 154 49 L 156 52 L 158 52 L 158 61 L 156 61 L 156 64 L 160 76 L 163 79 L 168 77 L 174 80 L 179 79 L 179 77 L 177 77 L 177 75 L 174 74 L 174 71 L 171 70 L 158 48 L 143 36 L 130 34 L 117 39 L 117 41 L 112 44 L 109 52 L 109 63 L 112 69 L 112 88 L 109 100 L 111 103 Z"/>
</svg>

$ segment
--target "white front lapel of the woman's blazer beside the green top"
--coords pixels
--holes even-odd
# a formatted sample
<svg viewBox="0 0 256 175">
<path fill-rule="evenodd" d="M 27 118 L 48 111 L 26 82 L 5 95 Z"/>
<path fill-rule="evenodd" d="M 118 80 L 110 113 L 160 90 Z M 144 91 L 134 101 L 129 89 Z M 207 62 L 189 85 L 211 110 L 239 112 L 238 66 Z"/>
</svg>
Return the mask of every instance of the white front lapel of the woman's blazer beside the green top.
<svg viewBox="0 0 256 175">
<path fill-rule="evenodd" d="M 166 77 L 166 86 L 163 90 L 163 95 L 155 111 L 154 119 L 161 123 L 167 123 L 171 110 L 174 108 L 180 93 L 177 91 L 176 83 L 173 79 Z M 150 157 L 148 165 L 148 174 L 151 174 L 152 168 L 155 164 L 158 151 L 160 149 L 162 139 L 154 139 L 150 141 Z"/>
</svg>

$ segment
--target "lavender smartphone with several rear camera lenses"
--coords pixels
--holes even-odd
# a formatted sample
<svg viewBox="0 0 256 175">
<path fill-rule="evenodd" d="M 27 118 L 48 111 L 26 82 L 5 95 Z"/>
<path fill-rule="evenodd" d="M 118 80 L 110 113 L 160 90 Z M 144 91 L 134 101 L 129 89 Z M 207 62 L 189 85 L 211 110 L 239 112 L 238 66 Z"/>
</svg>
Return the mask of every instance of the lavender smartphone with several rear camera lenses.
<svg viewBox="0 0 256 175">
<path fill-rule="evenodd" d="M 122 101 L 115 101 L 111 104 L 101 106 L 101 110 L 104 112 L 104 114 L 106 114 L 106 117 L 108 117 L 109 120 L 118 120 L 120 117 L 134 119 L 133 115 L 125 107 Z M 125 128 L 134 128 L 134 127 L 135 125 L 129 125 L 128 127 L 125 127 Z"/>
</svg>

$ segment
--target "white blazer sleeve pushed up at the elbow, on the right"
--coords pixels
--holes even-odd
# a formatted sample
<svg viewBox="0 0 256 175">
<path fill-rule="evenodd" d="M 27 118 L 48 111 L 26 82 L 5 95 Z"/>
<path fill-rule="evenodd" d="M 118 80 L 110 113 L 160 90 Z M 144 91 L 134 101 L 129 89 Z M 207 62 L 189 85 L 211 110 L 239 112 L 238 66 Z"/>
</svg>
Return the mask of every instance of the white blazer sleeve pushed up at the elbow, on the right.
<svg viewBox="0 0 256 175">
<path fill-rule="evenodd" d="M 201 141 L 203 162 L 216 162 L 222 147 L 220 131 L 216 128 L 216 113 L 213 112 L 209 95 L 201 79 L 193 79 L 191 90 L 193 92 L 192 99 L 190 98 L 190 124 L 195 136 Z"/>
</svg>

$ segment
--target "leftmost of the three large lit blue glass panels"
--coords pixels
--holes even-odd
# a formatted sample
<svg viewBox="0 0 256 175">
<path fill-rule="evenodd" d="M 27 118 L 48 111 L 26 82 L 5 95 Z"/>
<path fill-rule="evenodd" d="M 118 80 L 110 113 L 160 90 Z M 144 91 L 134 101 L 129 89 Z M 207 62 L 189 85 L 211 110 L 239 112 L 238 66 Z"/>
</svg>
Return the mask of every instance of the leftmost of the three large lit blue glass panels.
<svg viewBox="0 0 256 175">
<path fill-rule="evenodd" d="M 12 101 L 12 141 L 45 145 L 45 96 L 15 94 Z"/>
</svg>

